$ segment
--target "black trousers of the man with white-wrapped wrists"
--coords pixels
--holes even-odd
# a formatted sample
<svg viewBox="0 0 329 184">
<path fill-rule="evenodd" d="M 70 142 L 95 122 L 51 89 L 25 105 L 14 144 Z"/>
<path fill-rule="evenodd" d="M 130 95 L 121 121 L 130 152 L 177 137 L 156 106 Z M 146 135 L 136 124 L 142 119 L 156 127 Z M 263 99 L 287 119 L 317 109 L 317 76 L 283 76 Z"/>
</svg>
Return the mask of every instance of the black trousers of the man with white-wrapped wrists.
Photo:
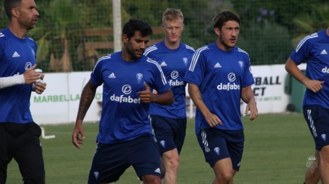
<svg viewBox="0 0 329 184">
<path fill-rule="evenodd" d="M 40 135 L 41 129 L 34 122 L 0 123 L 0 183 L 6 182 L 7 166 L 12 159 L 17 162 L 25 184 L 45 182 Z"/>
</svg>

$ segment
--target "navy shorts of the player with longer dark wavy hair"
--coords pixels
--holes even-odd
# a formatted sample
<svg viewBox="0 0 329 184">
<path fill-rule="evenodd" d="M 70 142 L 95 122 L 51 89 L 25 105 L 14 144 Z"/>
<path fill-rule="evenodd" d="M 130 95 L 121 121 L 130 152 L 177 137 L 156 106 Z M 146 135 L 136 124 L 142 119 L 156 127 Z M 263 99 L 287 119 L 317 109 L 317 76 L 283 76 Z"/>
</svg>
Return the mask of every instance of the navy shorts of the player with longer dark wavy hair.
<svg viewBox="0 0 329 184">
<path fill-rule="evenodd" d="M 243 129 L 206 128 L 197 134 L 197 138 L 210 167 L 214 167 L 217 161 L 230 157 L 233 169 L 239 171 L 244 146 Z"/>
</svg>

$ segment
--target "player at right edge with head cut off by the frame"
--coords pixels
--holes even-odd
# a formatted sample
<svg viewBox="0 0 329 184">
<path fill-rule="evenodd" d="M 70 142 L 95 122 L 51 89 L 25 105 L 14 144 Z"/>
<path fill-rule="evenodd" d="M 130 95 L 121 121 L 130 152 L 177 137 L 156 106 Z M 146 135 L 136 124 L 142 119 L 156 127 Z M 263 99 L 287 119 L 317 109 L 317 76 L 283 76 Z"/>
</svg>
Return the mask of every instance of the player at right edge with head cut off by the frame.
<svg viewBox="0 0 329 184">
<path fill-rule="evenodd" d="M 315 141 L 319 155 L 322 183 L 329 183 L 329 27 L 301 39 L 288 58 L 285 68 L 297 81 L 306 86 L 303 114 Z M 306 74 L 297 67 L 306 61 Z M 317 170 L 306 173 L 306 184 L 317 183 Z M 312 179 L 313 178 L 313 179 Z"/>
</svg>

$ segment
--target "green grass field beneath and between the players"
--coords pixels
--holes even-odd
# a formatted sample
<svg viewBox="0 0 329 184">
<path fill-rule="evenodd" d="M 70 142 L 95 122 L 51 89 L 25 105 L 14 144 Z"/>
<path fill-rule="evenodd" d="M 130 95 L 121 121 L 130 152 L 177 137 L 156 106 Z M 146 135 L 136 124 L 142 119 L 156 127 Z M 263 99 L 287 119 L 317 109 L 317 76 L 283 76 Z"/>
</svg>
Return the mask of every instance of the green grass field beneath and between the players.
<svg viewBox="0 0 329 184">
<path fill-rule="evenodd" d="M 259 115 L 250 121 L 243 117 L 245 149 L 235 184 L 300 184 L 307 169 L 307 157 L 314 155 L 314 142 L 301 114 Z M 179 184 L 207 184 L 214 172 L 204 157 L 194 134 L 194 120 L 187 122 L 185 143 L 181 152 Z M 77 149 L 71 143 L 74 124 L 44 126 L 41 139 L 46 170 L 46 183 L 87 183 L 87 176 L 96 146 L 97 123 L 85 123 L 85 144 Z M 133 153 L 132 153 L 133 154 Z M 8 184 L 22 183 L 16 162 L 8 166 Z M 130 167 L 119 184 L 139 183 Z"/>
</svg>

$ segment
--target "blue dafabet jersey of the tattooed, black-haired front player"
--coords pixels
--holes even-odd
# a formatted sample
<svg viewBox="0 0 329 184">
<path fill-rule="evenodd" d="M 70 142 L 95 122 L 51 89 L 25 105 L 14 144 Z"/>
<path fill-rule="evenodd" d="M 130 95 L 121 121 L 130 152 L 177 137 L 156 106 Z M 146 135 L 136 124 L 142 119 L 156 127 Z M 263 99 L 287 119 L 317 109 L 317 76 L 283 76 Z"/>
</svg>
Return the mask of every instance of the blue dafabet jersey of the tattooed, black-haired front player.
<svg viewBox="0 0 329 184">
<path fill-rule="evenodd" d="M 121 51 L 114 52 L 97 61 L 90 78 L 96 86 L 103 84 L 98 142 L 125 142 L 152 134 L 149 103 L 141 102 L 137 92 L 145 90 L 144 82 L 159 93 L 170 88 L 156 61 L 142 56 L 126 62 Z"/>
</svg>

